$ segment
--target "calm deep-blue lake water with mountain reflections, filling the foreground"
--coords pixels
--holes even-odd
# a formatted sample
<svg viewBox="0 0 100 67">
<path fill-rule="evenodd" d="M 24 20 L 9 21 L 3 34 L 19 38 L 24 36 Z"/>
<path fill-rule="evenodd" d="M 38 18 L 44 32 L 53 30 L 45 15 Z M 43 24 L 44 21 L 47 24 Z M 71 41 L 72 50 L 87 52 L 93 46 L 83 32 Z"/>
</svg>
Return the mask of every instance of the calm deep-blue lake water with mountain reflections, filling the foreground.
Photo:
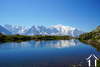
<svg viewBox="0 0 100 67">
<path fill-rule="evenodd" d="M 82 64 L 85 58 L 100 52 L 78 40 L 26 41 L 0 44 L 0 67 L 72 67 Z"/>
</svg>

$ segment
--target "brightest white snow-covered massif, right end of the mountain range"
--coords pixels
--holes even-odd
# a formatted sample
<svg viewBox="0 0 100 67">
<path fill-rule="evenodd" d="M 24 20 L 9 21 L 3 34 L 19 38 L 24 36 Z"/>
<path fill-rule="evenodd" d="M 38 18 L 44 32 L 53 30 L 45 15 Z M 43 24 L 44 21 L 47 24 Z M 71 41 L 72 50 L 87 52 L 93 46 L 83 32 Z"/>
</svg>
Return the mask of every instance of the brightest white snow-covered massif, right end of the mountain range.
<svg viewBox="0 0 100 67">
<path fill-rule="evenodd" d="M 51 26 L 52 27 L 55 27 L 60 33 L 61 35 L 69 35 L 69 36 L 73 36 L 73 37 L 77 37 L 85 32 L 77 29 L 77 28 L 72 28 L 70 26 L 64 26 L 64 25 L 55 25 L 55 26 Z"/>
</svg>

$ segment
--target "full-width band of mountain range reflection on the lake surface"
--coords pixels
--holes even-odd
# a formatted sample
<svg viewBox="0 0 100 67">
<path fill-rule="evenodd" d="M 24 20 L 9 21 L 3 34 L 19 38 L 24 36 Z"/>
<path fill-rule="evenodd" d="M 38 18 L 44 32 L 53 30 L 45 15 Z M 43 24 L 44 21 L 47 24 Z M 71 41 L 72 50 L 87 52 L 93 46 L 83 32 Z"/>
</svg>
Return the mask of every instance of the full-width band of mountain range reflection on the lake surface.
<svg viewBox="0 0 100 67">
<path fill-rule="evenodd" d="M 11 43 L 3 43 L 0 45 L 0 49 L 23 49 L 23 48 L 65 48 L 76 46 L 80 42 L 78 40 L 55 40 L 55 41 L 26 41 L 26 42 L 11 42 Z"/>
</svg>

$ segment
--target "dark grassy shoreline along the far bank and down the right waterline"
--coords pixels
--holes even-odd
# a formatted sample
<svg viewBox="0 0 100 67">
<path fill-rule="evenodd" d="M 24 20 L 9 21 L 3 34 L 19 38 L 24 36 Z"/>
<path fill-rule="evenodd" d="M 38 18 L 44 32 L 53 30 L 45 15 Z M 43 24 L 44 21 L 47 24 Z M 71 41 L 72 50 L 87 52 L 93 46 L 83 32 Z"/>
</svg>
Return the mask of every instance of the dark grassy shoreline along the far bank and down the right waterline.
<svg viewBox="0 0 100 67">
<path fill-rule="evenodd" d="M 83 37 L 82 37 L 83 36 Z M 4 35 L 0 33 L 0 43 L 4 42 L 23 42 L 23 41 L 30 41 L 30 40 L 35 40 L 35 41 L 42 41 L 42 40 L 69 40 L 69 39 L 77 39 L 82 43 L 89 44 L 93 47 L 95 47 L 99 52 L 100 52 L 100 43 L 93 40 L 91 41 L 90 39 L 85 38 L 84 35 L 80 35 L 79 37 L 71 37 L 71 36 L 55 36 L 55 35 L 36 35 L 36 36 L 25 36 L 25 35 Z M 97 67 L 100 66 L 100 59 L 98 60 Z"/>
</svg>

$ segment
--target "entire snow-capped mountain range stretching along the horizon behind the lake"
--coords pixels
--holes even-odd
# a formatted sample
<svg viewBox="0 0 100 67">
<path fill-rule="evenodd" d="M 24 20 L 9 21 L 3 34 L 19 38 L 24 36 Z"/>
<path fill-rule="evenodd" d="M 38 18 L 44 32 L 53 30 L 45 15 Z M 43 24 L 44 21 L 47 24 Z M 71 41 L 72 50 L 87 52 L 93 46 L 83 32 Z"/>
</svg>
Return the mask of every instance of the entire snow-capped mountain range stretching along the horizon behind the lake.
<svg viewBox="0 0 100 67">
<path fill-rule="evenodd" d="M 45 26 L 36 26 L 35 27 L 33 25 L 29 29 L 26 27 L 23 27 L 23 26 L 12 26 L 9 24 L 5 24 L 3 27 L 7 31 L 11 32 L 12 34 L 21 34 L 21 35 L 29 35 L 29 36 L 34 36 L 34 35 L 69 35 L 69 36 L 77 37 L 77 36 L 85 33 L 83 31 L 79 30 L 78 28 L 64 26 L 61 24 L 55 25 L 55 26 L 51 25 L 49 27 L 45 27 Z M 0 28 L 0 30 L 1 30 L 1 28 Z"/>
</svg>

